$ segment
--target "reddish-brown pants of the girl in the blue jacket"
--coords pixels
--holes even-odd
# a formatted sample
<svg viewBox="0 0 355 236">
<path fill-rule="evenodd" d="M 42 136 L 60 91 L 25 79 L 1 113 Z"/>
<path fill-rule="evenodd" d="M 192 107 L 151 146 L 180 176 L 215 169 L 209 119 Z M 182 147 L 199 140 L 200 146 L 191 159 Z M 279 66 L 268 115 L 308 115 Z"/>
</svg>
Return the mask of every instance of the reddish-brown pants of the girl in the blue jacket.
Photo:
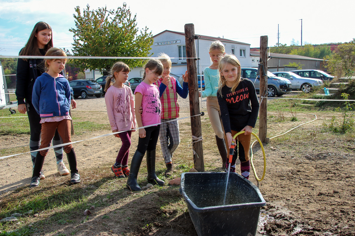
<svg viewBox="0 0 355 236">
<path fill-rule="evenodd" d="M 54 121 L 54 122 L 44 122 L 42 123 L 41 129 L 41 145 L 40 149 L 48 148 L 51 140 L 54 137 L 55 130 L 58 128 L 58 133 L 63 140 L 63 143 L 70 143 L 71 137 L 71 123 L 70 120 L 61 120 L 61 121 Z M 69 153 L 73 146 L 71 144 L 64 146 L 65 153 Z M 47 155 L 48 150 L 39 151 L 42 156 Z"/>
</svg>

